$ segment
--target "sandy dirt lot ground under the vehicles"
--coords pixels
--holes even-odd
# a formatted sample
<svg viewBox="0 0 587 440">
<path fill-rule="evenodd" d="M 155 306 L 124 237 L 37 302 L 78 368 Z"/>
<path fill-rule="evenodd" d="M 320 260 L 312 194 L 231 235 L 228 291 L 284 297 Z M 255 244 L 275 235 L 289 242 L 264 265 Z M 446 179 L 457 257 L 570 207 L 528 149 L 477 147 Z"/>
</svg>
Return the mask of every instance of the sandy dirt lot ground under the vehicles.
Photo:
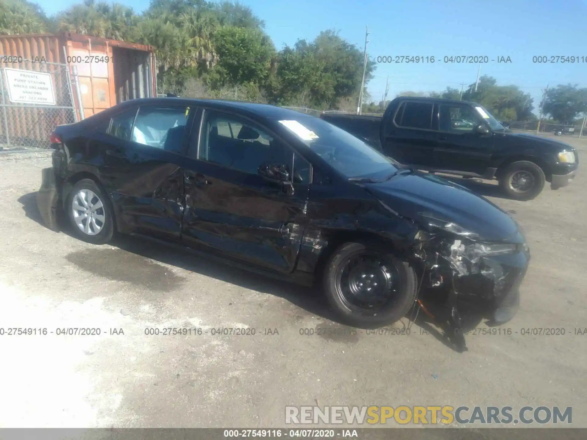
<svg viewBox="0 0 587 440">
<path fill-rule="evenodd" d="M 587 158 L 587 143 L 565 140 Z M 308 289 L 134 239 L 92 246 L 51 232 L 35 201 L 49 165 L 45 153 L 0 155 L 0 327 L 102 334 L 0 336 L 0 427 L 283 427 L 285 405 L 316 402 L 572 406 L 573 427 L 587 427 L 587 334 L 575 334 L 587 327 L 583 170 L 529 202 L 465 181 L 524 226 L 532 261 L 502 327 L 512 334 L 470 335 L 458 354 L 417 326 L 301 336 L 339 327 Z M 208 333 L 146 336 L 153 327 Z M 212 336 L 218 327 L 256 334 Z M 535 327 L 566 334 L 521 335 Z"/>
</svg>

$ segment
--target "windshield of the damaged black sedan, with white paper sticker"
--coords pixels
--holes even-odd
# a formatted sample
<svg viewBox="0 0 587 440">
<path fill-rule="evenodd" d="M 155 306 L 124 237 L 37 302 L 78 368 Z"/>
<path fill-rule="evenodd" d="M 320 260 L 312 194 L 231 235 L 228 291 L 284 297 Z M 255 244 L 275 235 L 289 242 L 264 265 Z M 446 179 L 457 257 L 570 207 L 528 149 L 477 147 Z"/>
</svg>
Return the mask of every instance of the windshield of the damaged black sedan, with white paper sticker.
<svg viewBox="0 0 587 440">
<path fill-rule="evenodd" d="M 386 178 L 398 170 L 396 162 L 342 128 L 317 117 L 280 119 L 279 123 L 296 134 L 323 160 L 346 178 Z"/>
</svg>

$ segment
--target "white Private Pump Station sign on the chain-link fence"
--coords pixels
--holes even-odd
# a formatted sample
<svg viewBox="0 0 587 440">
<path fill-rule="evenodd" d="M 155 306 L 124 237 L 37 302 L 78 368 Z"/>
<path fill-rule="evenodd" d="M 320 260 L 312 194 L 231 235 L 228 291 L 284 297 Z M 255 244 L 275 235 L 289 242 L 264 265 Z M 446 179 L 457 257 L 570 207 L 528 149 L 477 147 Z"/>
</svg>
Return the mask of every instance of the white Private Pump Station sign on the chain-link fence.
<svg viewBox="0 0 587 440">
<path fill-rule="evenodd" d="M 8 68 L 4 70 L 11 102 L 55 105 L 53 80 L 50 73 Z"/>
</svg>

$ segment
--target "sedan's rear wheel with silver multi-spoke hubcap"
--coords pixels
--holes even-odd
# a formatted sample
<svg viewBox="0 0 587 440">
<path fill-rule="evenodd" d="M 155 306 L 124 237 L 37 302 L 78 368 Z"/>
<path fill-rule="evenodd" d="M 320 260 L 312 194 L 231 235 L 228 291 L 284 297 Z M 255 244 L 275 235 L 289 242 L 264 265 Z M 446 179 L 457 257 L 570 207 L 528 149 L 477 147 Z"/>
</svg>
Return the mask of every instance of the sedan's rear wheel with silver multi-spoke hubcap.
<svg viewBox="0 0 587 440">
<path fill-rule="evenodd" d="M 65 209 L 75 236 L 102 245 L 112 240 L 112 205 L 102 189 L 90 179 L 82 179 L 69 192 Z"/>
</svg>

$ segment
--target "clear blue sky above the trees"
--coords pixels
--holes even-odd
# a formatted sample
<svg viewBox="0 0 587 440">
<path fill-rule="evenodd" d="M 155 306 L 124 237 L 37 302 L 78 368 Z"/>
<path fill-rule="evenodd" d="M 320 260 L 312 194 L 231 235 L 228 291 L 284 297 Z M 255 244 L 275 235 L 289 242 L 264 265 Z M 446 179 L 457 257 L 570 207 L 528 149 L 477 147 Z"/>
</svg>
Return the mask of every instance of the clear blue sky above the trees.
<svg viewBox="0 0 587 440">
<path fill-rule="evenodd" d="M 34 0 L 33 0 L 34 1 Z M 48 15 L 81 1 L 37 0 Z M 147 1 L 120 3 L 141 12 Z M 363 49 L 369 26 L 367 52 L 377 56 L 435 56 L 435 63 L 379 63 L 367 90 L 379 101 L 389 75 L 388 99 L 404 90 L 427 92 L 446 86 L 460 89 L 475 82 L 477 64 L 450 64 L 438 58 L 451 55 L 510 57 L 511 63 L 490 62 L 481 75 L 498 84 L 517 84 L 538 103 L 546 84 L 587 87 L 587 0 L 242 0 L 265 20 L 265 31 L 276 47 L 293 45 L 298 38 L 312 40 L 320 31 L 339 35 Z M 532 56 L 579 56 L 578 64 L 537 64 Z M 536 111 L 536 110 L 535 110 Z"/>
</svg>

